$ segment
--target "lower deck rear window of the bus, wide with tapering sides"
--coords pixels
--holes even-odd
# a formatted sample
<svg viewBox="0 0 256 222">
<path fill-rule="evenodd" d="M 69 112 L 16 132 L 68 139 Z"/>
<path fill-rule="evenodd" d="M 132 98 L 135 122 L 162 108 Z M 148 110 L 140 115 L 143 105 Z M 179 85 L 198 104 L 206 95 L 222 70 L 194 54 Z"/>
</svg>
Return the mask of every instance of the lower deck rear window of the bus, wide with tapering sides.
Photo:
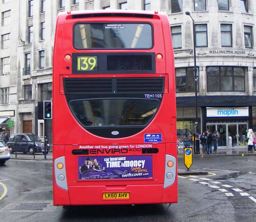
<svg viewBox="0 0 256 222">
<path fill-rule="evenodd" d="M 71 100 L 73 115 L 84 127 L 147 125 L 160 106 L 157 99 Z"/>
</svg>

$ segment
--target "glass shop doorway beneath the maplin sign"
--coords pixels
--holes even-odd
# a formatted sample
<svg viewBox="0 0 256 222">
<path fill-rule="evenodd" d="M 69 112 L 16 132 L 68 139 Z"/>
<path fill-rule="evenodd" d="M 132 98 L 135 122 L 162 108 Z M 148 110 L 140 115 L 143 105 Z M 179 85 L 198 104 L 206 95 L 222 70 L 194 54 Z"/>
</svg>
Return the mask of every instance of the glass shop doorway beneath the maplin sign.
<svg viewBox="0 0 256 222">
<path fill-rule="evenodd" d="M 229 137 L 232 138 L 232 147 L 247 146 L 247 123 L 207 123 L 206 128 L 208 128 L 211 133 L 214 130 L 219 134 L 218 146 L 227 147 L 229 146 Z"/>
</svg>

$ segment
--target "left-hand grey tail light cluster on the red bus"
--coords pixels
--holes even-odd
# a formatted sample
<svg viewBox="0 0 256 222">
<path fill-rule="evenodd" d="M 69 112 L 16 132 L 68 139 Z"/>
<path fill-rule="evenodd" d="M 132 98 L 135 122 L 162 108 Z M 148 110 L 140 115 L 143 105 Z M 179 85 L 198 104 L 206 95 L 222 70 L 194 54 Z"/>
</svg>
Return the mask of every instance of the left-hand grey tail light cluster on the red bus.
<svg viewBox="0 0 256 222">
<path fill-rule="evenodd" d="M 68 190 L 67 187 L 67 175 L 65 167 L 65 156 L 56 158 L 54 161 L 54 175 L 57 186 L 64 190 Z"/>
</svg>

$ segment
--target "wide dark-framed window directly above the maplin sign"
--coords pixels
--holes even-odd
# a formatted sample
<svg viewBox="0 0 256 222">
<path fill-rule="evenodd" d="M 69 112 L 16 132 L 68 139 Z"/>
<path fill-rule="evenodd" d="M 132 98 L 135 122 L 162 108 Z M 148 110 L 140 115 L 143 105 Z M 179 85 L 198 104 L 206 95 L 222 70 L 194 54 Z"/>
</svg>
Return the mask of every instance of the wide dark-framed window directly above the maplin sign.
<svg viewBox="0 0 256 222">
<path fill-rule="evenodd" d="M 242 67 L 206 67 L 207 91 L 245 91 L 245 69 Z"/>
</svg>

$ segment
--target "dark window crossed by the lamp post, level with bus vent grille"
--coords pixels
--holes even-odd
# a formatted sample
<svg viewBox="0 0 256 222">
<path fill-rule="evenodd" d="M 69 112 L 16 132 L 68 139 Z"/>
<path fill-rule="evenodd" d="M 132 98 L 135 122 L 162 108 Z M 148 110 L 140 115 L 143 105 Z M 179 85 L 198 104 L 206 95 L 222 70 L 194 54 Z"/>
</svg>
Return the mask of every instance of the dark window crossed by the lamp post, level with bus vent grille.
<svg viewBox="0 0 256 222">
<path fill-rule="evenodd" d="M 198 80 L 198 68 L 196 71 Z M 175 68 L 175 81 L 177 93 L 195 92 L 195 73 L 194 68 Z M 199 87 L 197 84 L 197 91 Z"/>
</svg>

